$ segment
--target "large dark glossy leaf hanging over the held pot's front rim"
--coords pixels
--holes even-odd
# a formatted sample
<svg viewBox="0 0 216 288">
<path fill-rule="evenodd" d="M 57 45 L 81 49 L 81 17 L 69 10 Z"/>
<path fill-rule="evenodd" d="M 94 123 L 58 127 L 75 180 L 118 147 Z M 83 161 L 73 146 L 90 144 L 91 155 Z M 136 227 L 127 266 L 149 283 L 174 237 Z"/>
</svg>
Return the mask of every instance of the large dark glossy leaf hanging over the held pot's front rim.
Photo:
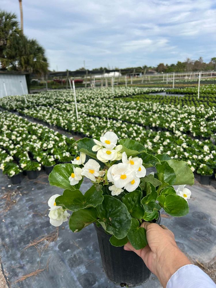
<svg viewBox="0 0 216 288">
<path fill-rule="evenodd" d="M 131 216 L 127 207 L 113 196 L 104 195 L 102 204 L 96 207 L 103 228 L 116 238 L 122 239 L 127 236 L 131 226 Z"/>
</svg>

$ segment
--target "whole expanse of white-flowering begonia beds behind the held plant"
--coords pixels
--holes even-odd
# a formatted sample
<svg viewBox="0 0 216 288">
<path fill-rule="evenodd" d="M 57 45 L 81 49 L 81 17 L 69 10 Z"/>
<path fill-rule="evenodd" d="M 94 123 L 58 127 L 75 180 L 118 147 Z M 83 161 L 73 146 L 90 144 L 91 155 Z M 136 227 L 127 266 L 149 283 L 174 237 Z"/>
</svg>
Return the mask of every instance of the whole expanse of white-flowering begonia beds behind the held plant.
<svg viewBox="0 0 216 288">
<path fill-rule="evenodd" d="M 10 111 L 1 112 L 3 173 L 12 176 L 13 169 L 35 170 L 40 165 L 69 162 L 76 154 L 73 138 L 32 124 L 35 119 L 80 137 L 97 137 L 112 130 L 118 137 L 139 141 L 151 154 L 167 153 L 172 159 L 185 160 L 194 173 L 213 175 L 215 179 L 216 85 L 202 86 L 199 99 L 197 90 L 197 87 L 120 87 L 114 88 L 114 92 L 111 88 L 78 89 L 78 120 L 73 93 L 69 90 L 29 94 L 27 101 L 23 96 L 2 98 L 0 107 Z M 165 96 L 157 95 L 164 91 Z M 11 112 L 28 116 L 30 122 Z"/>
</svg>

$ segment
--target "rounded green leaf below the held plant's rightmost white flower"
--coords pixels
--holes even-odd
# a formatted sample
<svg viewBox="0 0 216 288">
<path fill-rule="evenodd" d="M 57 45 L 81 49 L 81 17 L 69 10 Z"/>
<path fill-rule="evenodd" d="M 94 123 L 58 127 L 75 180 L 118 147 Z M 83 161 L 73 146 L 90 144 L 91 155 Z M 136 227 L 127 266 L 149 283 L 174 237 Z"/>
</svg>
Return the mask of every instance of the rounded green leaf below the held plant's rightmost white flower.
<svg viewBox="0 0 216 288">
<path fill-rule="evenodd" d="M 165 197 L 160 195 L 157 200 L 164 208 L 164 211 L 171 216 L 181 217 L 189 212 L 187 200 L 181 196 L 170 194 Z"/>
</svg>

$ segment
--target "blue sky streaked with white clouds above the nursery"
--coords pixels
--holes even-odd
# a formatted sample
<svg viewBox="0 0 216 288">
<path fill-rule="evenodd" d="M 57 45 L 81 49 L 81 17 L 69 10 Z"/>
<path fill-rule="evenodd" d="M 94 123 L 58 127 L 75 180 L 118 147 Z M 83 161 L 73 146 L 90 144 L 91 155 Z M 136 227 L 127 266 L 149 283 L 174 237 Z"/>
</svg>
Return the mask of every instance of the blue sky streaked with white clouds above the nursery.
<svg viewBox="0 0 216 288">
<path fill-rule="evenodd" d="M 215 0 L 22 0 L 24 33 L 50 69 L 131 67 L 216 57 Z M 18 0 L 0 9 L 19 15 Z"/>
</svg>

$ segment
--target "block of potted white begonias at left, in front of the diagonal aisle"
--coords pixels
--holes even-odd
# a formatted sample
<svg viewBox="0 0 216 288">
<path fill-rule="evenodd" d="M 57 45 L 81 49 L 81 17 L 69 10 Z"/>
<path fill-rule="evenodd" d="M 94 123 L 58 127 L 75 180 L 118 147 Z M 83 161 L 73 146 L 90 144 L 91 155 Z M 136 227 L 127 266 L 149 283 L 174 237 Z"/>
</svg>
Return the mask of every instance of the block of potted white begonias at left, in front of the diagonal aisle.
<svg viewBox="0 0 216 288">
<path fill-rule="evenodd" d="M 73 143 L 72 137 L 0 111 L 0 164 L 12 183 L 15 178 L 21 181 L 22 172 L 35 179 L 41 166 L 49 174 L 56 163 L 70 162 L 76 154 Z"/>
</svg>

